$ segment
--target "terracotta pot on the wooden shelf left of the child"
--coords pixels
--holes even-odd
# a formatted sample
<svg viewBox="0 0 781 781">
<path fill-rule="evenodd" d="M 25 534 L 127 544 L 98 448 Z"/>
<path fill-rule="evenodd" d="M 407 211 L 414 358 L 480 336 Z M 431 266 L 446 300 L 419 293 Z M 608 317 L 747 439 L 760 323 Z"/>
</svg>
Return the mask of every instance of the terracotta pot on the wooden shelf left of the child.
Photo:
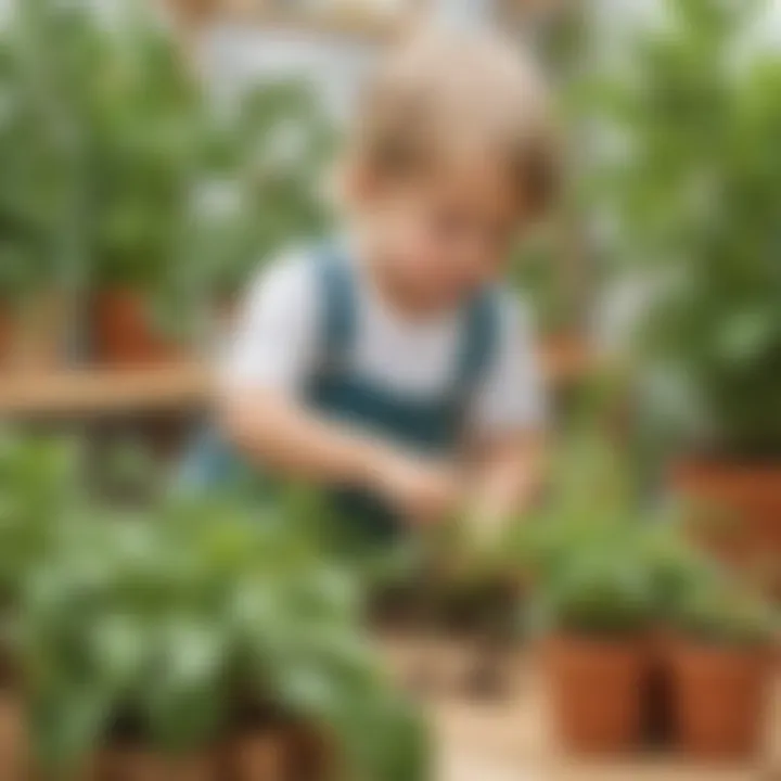
<svg viewBox="0 0 781 781">
<path fill-rule="evenodd" d="M 181 357 L 179 346 L 155 332 L 143 296 L 130 289 L 95 296 L 93 329 L 97 357 L 103 363 L 159 364 Z"/>
</svg>

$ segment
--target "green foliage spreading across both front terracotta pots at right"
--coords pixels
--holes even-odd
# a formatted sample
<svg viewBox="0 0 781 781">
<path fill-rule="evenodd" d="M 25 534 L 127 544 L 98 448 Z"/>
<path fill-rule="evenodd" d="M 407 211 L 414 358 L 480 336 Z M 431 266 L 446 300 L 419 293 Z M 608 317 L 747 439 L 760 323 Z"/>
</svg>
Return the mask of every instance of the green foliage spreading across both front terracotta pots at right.
<svg viewBox="0 0 781 781">
<path fill-rule="evenodd" d="M 589 637 L 669 628 L 715 643 L 759 643 L 778 626 L 756 593 L 696 550 L 677 511 L 637 504 L 626 465 L 582 436 L 559 461 L 556 492 L 514 530 L 537 630 Z"/>
</svg>

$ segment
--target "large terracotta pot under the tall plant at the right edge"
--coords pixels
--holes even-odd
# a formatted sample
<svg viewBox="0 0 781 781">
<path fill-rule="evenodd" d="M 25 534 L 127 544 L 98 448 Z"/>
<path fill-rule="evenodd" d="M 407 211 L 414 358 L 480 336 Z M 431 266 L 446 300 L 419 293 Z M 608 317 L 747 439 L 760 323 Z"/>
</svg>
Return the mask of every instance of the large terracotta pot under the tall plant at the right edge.
<svg viewBox="0 0 781 781">
<path fill-rule="evenodd" d="M 689 461 L 673 472 L 694 505 L 694 536 L 721 560 L 781 588 L 781 463 Z"/>
</svg>

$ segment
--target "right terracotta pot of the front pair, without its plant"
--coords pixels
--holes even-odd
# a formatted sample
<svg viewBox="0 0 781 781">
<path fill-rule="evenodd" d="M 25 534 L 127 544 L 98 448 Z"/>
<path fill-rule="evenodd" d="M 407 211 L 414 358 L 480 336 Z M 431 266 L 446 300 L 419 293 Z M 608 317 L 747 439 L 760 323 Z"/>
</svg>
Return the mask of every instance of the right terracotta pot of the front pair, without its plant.
<svg viewBox="0 0 781 781">
<path fill-rule="evenodd" d="M 670 646 L 677 743 L 703 758 L 756 755 L 765 737 L 772 675 L 764 649 Z"/>
</svg>

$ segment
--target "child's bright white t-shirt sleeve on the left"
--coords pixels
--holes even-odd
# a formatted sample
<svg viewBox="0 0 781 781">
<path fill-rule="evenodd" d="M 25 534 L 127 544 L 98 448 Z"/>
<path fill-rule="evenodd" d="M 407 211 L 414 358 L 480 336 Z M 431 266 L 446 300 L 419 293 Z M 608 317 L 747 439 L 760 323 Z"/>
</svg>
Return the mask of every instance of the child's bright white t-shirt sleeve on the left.
<svg viewBox="0 0 781 781">
<path fill-rule="evenodd" d="M 318 295 L 311 264 L 287 256 L 252 284 L 220 367 L 225 389 L 299 393 L 317 361 Z"/>
</svg>

